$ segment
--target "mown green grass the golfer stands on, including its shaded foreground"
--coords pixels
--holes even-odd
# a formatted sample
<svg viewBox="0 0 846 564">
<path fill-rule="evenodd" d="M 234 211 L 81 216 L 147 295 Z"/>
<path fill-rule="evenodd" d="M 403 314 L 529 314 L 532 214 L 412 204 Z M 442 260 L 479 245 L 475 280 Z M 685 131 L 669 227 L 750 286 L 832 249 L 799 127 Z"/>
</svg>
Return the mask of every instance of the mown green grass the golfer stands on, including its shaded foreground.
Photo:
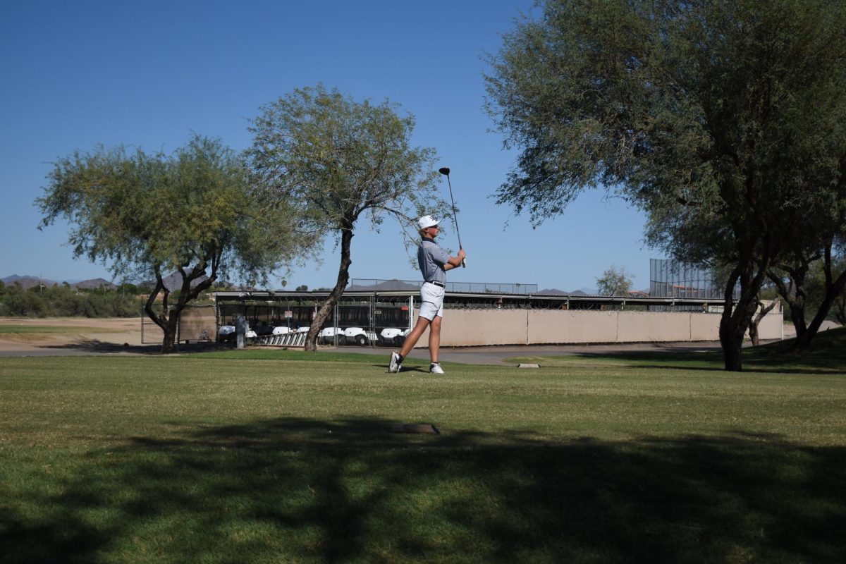
<svg viewBox="0 0 846 564">
<path fill-rule="evenodd" d="M 0 561 L 843 562 L 813 358 L 4 358 Z"/>
</svg>

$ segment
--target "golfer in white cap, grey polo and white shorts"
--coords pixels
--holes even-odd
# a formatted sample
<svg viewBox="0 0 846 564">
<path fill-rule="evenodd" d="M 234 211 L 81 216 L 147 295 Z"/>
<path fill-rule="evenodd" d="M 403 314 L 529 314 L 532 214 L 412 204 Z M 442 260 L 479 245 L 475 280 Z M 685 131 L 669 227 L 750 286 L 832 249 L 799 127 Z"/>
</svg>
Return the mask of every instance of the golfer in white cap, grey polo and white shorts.
<svg viewBox="0 0 846 564">
<path fill-rule="evenodd" d="M 417 324 L 411 330 L 408 337 L 405 337 L 403 348 L 399 353 L 391 353 L 391 364 L 388 364 L 388 372 L 399 372 L 402 368 L 405 356 L 411 352 L 417 344 L 417 340 L 426 327 L 429 330 L 429 354 L 431 364 L 429 371 L 432 374 L 443 374 L 441 364 L 438 363 L 437 353 L 441 347 L 441 320 L 443 319 L 443 293 L 447 287 L 448 270 L 461 265 L 461 261 L 467 256 L 464 249 L 459 249 L 458 256 L 449 256 L 441 249 L 435 238 L 437 237 L 437 224 L 440 220 L 432 216 L 422 216 L 417 220 L 417 229 L 420 232 L 420 247 L 417 248 L 417 263 L 420 265 L 420 274 L 423 275 L 423 286 L 420 287 L 420 315 L 417 317 Z"/>
</svg>

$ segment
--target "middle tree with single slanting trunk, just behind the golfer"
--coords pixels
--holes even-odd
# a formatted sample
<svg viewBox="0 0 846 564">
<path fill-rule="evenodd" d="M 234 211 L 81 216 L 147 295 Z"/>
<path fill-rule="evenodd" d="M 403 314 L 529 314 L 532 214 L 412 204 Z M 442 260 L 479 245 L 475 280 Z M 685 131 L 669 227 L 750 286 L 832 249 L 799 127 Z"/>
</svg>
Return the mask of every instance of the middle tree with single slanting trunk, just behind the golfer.
<svg viewBox="0 0 846 564">
<path fill-rule="evenodd" d="M 248 151 L 271 202 L 288 202 L 314 233 L 340 247 L 335 287 L 317 311 L 305 348 L 349 282 L 350 244 L 361 219 L 378 230 L 386 217 L 407 228 L 416 216 L 446 209 L 437 194 L 432 149 L 413 147 L 415 120 L 388 101 L 354 101 L 322 85 L 294 90 L 261 108 Z"/>
</svg>

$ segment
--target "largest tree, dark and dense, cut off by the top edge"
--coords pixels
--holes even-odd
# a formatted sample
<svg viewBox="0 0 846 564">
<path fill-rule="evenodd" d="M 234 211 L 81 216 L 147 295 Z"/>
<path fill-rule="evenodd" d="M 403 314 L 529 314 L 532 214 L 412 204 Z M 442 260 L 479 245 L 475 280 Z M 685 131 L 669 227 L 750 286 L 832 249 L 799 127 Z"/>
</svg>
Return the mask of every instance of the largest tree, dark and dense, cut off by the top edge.
<svg viewBox="0 0 846 564">
<path fill-rule="evenodd" d="M 640 206 L 652 244 L 727 268 L 740 370 L 766 272 L 843 197 L 846 4 L 547 0 L 503 41 L 487 108 L 520 154 L 497 201 L 533 222 L 599 186 Z"/>
</svg>

